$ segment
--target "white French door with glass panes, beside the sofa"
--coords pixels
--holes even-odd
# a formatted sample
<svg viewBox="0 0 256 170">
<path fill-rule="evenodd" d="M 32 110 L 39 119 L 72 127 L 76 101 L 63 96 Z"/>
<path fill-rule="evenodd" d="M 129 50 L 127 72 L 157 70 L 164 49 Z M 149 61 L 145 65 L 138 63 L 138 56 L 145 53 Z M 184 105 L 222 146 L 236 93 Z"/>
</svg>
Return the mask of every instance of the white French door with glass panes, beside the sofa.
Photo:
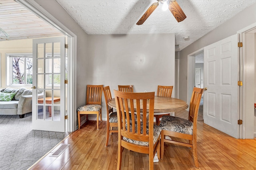
<svg viewBox="0 0 256 170">
<path fill-rule="evenodd" d="M 32 128 L 65 131 L 65 37 L 33 39 Z M 38 99 L 38 93 L 44 97 Z"/>
</svg>

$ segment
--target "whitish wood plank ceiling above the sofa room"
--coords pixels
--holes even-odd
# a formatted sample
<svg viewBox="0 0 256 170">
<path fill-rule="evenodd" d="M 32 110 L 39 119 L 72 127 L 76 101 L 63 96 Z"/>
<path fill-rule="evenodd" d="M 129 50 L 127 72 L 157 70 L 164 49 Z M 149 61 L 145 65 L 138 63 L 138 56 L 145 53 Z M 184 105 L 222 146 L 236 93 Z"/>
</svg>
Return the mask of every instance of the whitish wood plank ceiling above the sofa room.
<svg viewBox="0 0 256 170">
<path fill-rule="evenodd" d="M 14 0 L 0 1 L 0 28 L 10 36 L 0 41 L 63 35 Z"/>
</svg>

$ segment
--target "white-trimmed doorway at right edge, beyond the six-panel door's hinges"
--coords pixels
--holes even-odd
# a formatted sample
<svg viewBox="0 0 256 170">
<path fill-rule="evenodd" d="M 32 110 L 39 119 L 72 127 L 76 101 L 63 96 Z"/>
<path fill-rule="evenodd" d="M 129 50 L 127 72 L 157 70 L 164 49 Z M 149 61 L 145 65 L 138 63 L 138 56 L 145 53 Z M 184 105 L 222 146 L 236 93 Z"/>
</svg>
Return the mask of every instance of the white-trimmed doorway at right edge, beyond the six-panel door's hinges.
<svg viewBox="0 0 256 170">
<path fill-rule="evenodd" d="M 240 80 L 243 82 L 240 90 L 240 112 L 242 115 L 242 139 L 254 139 L 256 137 L 256 23 L 238 31 L 243 47 L 240 48 Z"/>
</svg>

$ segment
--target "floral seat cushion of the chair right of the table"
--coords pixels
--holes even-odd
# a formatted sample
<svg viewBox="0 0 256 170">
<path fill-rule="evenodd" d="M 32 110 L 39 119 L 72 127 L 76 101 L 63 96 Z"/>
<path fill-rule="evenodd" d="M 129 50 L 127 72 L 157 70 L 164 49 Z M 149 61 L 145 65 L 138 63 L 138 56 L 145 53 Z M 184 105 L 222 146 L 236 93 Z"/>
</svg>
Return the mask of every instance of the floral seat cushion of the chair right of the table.
<svg viewBox="0 0 256 170">
<path fill-rule="evenodd" d="M 193 123 L 180 117 L 163 116 L 159 126 L 162 127 L 162 130 L 179 132 L 188 135 L 193 134 Z"/>
</svg>

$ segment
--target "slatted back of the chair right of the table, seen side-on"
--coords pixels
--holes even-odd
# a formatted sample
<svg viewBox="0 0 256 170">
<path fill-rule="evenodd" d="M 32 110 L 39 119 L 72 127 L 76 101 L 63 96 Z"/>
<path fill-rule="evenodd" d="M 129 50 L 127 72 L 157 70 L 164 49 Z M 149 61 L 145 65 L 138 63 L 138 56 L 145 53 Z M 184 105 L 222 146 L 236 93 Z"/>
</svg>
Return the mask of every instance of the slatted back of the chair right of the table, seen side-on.
<svg viewBox="0 0 256 170">
<path fill-rule="evenodd" d="M 204 89 L 196 88 L 196 87 L 194 87 L 192 92 L 190 105 L 189 105 L 188 119 L 194 123 L 197 121 L 198 109 L 200 106 L 200 100 L 203 92 L 204 92 Z"/>
</svg>

